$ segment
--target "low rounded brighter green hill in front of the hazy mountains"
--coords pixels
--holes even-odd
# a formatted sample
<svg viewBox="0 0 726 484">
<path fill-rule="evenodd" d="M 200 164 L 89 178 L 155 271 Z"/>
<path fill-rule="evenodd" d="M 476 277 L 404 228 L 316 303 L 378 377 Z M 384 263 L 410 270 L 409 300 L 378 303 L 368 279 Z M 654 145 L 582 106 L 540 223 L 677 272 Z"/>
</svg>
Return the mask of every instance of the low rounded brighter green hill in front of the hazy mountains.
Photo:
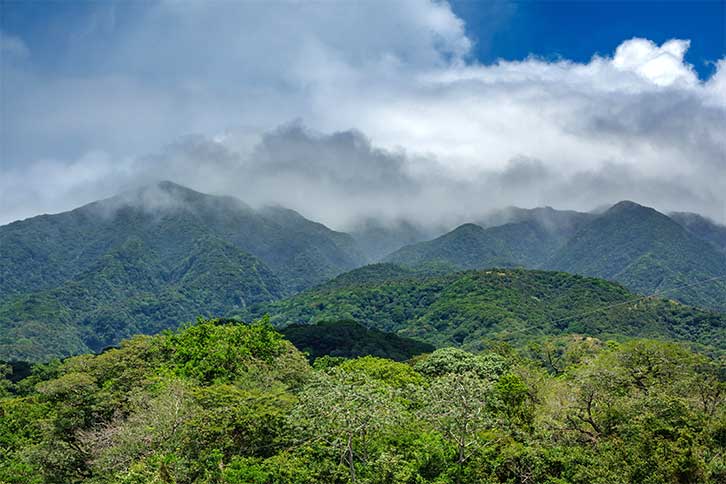
<svg viewBox="0 0 726 484">
<path fill-rule="evenodd" d="M 279 326 L 354 320 L 437 346 L 469 349 L 578 333 L 678 339 L 726 350 L 726 316 L 644 298 L 602 279 L 523 269 L 440 275 L 409 270 L 390 264 L 356 269 L 337 284 L 251 307 L 251 313 L 270 314 Z"/>
</svg>

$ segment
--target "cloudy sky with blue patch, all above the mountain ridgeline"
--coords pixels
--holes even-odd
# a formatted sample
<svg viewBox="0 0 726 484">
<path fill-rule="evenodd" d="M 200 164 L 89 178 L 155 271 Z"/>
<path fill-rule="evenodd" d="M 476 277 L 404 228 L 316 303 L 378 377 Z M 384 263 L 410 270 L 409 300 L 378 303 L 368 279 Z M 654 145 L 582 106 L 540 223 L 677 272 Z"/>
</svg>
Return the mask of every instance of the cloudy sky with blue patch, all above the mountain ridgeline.
<svg viewBox="0 0 726 484">
<path fill-rule="evenodd" d="M 726 223 L 726 7 L 0 0 L 0 223 L 162 179 L 340 229 Z"/>
</svg>

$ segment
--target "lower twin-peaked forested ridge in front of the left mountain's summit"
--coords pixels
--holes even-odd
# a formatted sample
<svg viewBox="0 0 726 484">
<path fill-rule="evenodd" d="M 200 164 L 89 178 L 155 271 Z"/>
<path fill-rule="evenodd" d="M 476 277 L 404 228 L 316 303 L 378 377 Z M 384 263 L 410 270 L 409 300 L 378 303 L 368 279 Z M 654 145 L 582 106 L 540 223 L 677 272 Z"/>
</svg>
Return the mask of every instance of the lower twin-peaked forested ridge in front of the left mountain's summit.
<svg viewBox="0 0 726 484">
<path fill-rule="evenodd" d="M 38 361 L 99 351 L 134 334 L 283 294 L 259 259 L 220 240 L 198 241 L 170 271 L 159 260 L 131 238 L 58 287 L 1 304 L 0 358 Z"/>
</svg>

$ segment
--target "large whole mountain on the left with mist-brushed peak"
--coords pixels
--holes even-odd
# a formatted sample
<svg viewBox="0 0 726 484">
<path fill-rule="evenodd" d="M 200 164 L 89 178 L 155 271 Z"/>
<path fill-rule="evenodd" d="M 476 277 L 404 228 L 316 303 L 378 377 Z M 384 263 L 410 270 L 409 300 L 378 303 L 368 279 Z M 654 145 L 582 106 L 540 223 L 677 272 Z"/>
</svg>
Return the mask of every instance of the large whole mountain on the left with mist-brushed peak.
<svg viewBox="0 0 726 484">
<path fill-rule="evenodd" d="M 0 359 L 97 351 L 224 315 L 363 262 L 347 234 L 280 207 L 161 182 L 0 227 Z"/>
</svg>

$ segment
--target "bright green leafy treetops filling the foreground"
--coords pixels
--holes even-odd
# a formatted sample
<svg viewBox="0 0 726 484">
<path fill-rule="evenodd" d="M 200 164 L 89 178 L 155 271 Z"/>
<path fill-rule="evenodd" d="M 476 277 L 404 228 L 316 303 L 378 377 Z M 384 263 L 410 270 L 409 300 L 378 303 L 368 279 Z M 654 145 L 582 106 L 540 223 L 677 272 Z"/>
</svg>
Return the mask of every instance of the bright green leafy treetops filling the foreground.
<svg viewBox="0 0 726 484">
<path fill-rule="evenodd" d="M 652 340 L 310 366 L 265 321 L 200 321 L 0 372 L 0 482 L 717 484 L 725 390 Z"/>
</svg>

